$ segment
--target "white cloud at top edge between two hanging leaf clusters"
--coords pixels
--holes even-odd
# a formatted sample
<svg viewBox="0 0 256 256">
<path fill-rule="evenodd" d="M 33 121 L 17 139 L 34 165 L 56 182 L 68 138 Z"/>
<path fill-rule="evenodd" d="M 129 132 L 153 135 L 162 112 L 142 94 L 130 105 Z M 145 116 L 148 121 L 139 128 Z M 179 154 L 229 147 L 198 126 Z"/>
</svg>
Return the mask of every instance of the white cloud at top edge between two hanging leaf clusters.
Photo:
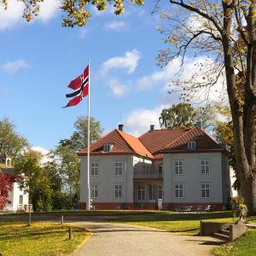
<svg viewBox="0 0 256 256">
<path fill-rule="evenodd" d="M 59 0 L 44 0 L 40 4 L 40 13 L 38 19 L 47 21 L 55 17 L 55 13 L 60 9 L 61 1 Z"/>
</svg>

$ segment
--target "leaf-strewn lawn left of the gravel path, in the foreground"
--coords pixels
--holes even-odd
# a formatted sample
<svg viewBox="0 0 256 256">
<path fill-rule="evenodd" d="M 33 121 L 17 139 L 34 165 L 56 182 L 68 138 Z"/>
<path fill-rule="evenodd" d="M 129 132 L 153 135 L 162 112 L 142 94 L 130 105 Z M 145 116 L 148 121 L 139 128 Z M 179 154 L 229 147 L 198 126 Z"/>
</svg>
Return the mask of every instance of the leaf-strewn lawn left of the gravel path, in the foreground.
<svg viewBox="0 0 256 256">
<path fill-rule="evenodd" d="M 68 226 L 35 222 L 0 222 L 0 253 L 4 256 L 63 255 L 72 253 L 89 232 L 73 227 L 72 240 L 68 240 Z"/>
</svg>

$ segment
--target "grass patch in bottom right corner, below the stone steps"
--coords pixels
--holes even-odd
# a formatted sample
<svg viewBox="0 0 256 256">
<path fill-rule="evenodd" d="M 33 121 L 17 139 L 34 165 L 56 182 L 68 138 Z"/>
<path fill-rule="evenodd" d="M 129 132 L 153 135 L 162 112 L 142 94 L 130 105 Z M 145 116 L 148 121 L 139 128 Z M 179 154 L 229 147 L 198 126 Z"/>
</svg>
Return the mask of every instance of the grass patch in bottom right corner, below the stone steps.
<svg viewBox="0 0 256 256">
<path fill-rule="evenodd" d="M 247 230 L 245 236 L 236 241 L 212 249 L 216 256 L 252 256 L 256 255 L 256 230 Z"/>
</svg>

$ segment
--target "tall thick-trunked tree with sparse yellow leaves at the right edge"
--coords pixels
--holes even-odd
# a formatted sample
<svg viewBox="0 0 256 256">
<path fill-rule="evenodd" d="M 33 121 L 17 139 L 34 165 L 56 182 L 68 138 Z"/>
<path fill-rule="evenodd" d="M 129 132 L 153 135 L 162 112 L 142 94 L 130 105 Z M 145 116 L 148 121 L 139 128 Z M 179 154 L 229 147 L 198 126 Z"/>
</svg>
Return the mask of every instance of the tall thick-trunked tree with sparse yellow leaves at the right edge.
<svg viewBox="0 0 256 256">
<path fill-rule="evenodd" d="M 256 212 L 256 3 L 253 0 L 170 0 L 170 3 L 176 9 L 162 12 L 170 23 L 168 30 L 162 27 L 161 32 L 166 33 L 166 43 L 172 48 L 160 51 L 160 63 L 167 65 L 179 57 L 183 65 L 186 54 L 209 55 L 205 63 L 198 64 L 196 77 L 183 82 L 187 96 L 209 89 L 224 77 L 241 192 L 249 213 L 253 214 Z"/>
</svg>

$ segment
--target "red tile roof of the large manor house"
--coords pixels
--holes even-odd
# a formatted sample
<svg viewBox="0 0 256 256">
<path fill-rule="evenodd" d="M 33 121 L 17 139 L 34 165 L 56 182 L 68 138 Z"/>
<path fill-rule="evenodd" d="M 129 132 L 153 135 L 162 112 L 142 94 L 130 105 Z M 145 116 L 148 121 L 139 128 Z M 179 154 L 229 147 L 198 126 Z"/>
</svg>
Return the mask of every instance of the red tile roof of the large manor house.
<svg viewBox="0 0 256 256">
<path fill-rule="evenodd" d="M 195 141 L 195 150 L 189 150 L 188 143 L 190 141 Z M 220 144 L 197 126 L 191 129 L 148 131 L 138 138 L 115 129 L 96 141 L 96 143 L 92 143 L 90 145 L 90 154 L 106 155 L 103 152 L 105 144 L 113 144 L 113 148 L 108 154 L 138 154 L 155 160 L 161 160 L 163 153 L 168 152 L 224 150 Z M 87 148 L 79 152 L 79 155 L 86 154 Z"/>
</svg>

